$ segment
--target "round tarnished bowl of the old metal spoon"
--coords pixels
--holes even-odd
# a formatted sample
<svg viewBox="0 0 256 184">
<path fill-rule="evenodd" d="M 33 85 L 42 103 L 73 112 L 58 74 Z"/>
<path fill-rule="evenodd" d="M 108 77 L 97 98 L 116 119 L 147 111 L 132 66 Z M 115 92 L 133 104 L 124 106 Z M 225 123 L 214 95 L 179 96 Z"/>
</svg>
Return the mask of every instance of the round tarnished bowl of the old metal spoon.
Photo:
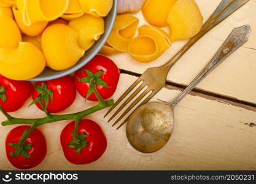
<svg viewBox="0 0 256 184">
<path fill-rule="evenodd" d="M 168 142 L 173 128 L 173 108 L 164 102 L 150 102 L 129 117 L 126 135 L 136 150 L 153 153 Z"/>
</svg>

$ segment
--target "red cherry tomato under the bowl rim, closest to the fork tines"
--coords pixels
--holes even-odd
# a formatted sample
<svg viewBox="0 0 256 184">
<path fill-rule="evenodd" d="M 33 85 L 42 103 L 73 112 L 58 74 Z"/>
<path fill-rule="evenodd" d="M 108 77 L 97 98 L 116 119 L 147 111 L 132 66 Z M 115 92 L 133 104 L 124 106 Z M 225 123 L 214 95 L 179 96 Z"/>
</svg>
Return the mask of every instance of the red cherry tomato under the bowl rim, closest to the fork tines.
<svg viewBox="0 0 256 184">
<path fill-rule="evenodd" d="M 85 66 L 83 66 L 81 69 L 79 69 L 76 74 L 75 74 L 75 84 L 77 91 L 83 98 L 86 98 L 88 88 L 89 88 L 89 83 L 84 83 L 80 82 L 79 79 L 82 79 L 83 77 L 87 77 L 87 73 L 84 71 L 84 69 L 88 69 L 94 74 L 99 71 L 103 71 L 104 73 L 99 77 L 99 79 L 103 80 L 104 82 L 107 83 L 109 88 L 106 88 L 101 85 L 96 85 L 96 90 L 98 91 L 99 95 L 103 99 L 110 98 L 114 93 L 115 90 L 117 89 L 117 83 L 120 77 L 120 72 L 118 67 L 115 65 L 115 63 L 101 55 L 95 56 L 95 58 L 91 59 L 91 61 Z M 92 93 L 88 100 L 90 101 L 98 101 L 96 98 L 95 94 Z"/>
</svg>

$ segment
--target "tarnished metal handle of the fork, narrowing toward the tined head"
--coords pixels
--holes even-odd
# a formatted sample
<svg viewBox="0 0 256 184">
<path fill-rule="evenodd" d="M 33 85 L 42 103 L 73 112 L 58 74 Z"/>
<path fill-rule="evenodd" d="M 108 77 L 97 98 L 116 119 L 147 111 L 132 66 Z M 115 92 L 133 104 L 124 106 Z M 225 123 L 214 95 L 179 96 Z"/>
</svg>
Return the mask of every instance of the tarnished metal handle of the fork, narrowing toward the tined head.
<svg viewBox="0 0 256 184">
<path fill-rule="evenodd" d="M 204 34 L 208 33 L 212 28 L 219 25 L 220 22 L 225 20 L 229 15 L 238 10 L 240 7 L 244 6 L 250 0 L 222 0 L 217 7 L 217 9 L 212 13 L 211 17 L 204 23 L 201 31 L 196 34 L 196 36 L 192 37 L 187 44 L 181 48 L 181 50 L 171 58 L 168 63 L 164 64 L 163 68 L 171 69 L 171 67 L 184 55 L 187 50 L 192 47 Z"/>
</svg>

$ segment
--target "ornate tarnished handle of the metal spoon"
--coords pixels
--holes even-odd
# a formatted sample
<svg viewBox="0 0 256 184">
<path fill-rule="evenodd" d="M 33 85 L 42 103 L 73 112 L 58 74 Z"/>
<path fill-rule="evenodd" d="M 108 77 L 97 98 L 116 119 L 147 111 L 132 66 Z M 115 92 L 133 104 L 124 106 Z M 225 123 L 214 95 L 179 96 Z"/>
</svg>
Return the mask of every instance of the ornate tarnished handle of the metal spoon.
<svg viewBox="0 0 256 184">
<path fill-rule="evenodd" d="M 198 85 L 209 73 L 211 73 L 222 61 L 224 61 L 231 53 L 235 52 L 239 47 L 245 44 L 250 34 L 250 26 L 244 25 L 240 28 L 235 28 L 231 32 L 230 36 L 225 40 L 218 52 L 214 55 L 211 61 L 204 67 L 204 69 L 196 76 L 196 78 L 185 88 L 182 93 L 177 96 L 171 102 L 168 102 L 171 106 L 176 106 L 184 96 L 186 96 L 193 88 Z"/>
</svg>

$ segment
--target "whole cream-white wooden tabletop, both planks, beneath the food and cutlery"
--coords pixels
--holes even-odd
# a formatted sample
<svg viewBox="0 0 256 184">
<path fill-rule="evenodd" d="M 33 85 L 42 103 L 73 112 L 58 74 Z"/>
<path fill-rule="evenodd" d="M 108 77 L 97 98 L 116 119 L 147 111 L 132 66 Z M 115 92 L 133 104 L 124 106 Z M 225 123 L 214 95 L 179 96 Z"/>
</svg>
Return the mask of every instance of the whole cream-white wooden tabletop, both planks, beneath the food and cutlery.
<svg viewBox="0 0 256 184">
<path fill-rule="evenodd" d="M 220 0 L 196 0 L 204 16 L 204 21 L 214 11 Z M 227 20 L 212 29 L 191 48 L 171 69 L 168 81 L 175 86 L 186 86 L 208 63 L 223 40 L 235 27 L 249 24 L 252 27 L 249 42 L 224 61 L 203 82 L 198 91 L 190 93 L 175 110 L 175 128 L 168 144 L 152 154 L 142 154 L 134 150 L 126 139 L 125 126 L 116 131 L 101 112 L 87 118 L 97 121 L 106 133 L 108 146 L 106 153 L 95 163 L 77 166 L 68 163 L 60 145 L 60 132 L 69 121 L 60 121 L 40 127 L 47 139 L 47 156 L 33 169 L 65 170 L 137 170 L 137 169 L 256 169 L 256 0 L 233 13 Z M 140 25 L 145 23 L 141 13 Z M 148 64 L 133 61 L 126 53 L 111 56 L 120 69 L 118 89 L 114 99 L 137 79 L 130 72 L 142 74 L 148 67 L 160 66 L 170 59 L 186 41 L 174 42 L 163 56 Z M 152 101 L 171 100 L 180 93 L 180 88 L 166 85 Z M 12 113 L 16 117 L 42 117 L 44 113 L 37 107 L 25 107 Z M 77 112 L 93 105 L 77 99 L 63 113 Z M 0 120 L 5 117 L 0 114 Z M 15 169 L 7 161 L 4 141 L 14 126 L 1 127 L 0 169 Z"/>
</svg>

